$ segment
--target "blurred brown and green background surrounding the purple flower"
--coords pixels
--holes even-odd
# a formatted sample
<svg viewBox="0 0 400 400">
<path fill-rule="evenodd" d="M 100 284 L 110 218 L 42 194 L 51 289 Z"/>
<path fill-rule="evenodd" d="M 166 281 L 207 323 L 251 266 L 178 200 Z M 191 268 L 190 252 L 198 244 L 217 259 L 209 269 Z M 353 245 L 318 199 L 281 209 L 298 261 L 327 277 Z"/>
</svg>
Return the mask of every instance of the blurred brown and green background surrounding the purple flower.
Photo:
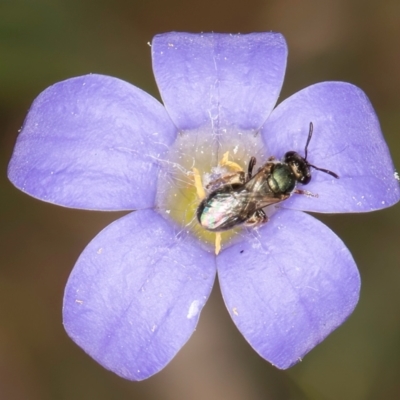
<svg viewBox="0 0 400 400">
<path fill-rule="evenodd" d="M 312 83 L 361 87 L 400 166 L 400 1 L 0 0 L 0 399 L 375 400 L 400 398 L 400 207 L 325 216 L 362 276 L 350 319 L 279 371 L 238 333 L 218 286 L 178 356 L 143 382 L 104 370 L 64 333 L 65 282 L 80 252 L 118 213 L 68 210 L 16 190 L 5 171 L 32 100 L 57 81 L 97 72 L 158 97 L 160 32 L 282 32 L 281 99 Z"/>
</svg>

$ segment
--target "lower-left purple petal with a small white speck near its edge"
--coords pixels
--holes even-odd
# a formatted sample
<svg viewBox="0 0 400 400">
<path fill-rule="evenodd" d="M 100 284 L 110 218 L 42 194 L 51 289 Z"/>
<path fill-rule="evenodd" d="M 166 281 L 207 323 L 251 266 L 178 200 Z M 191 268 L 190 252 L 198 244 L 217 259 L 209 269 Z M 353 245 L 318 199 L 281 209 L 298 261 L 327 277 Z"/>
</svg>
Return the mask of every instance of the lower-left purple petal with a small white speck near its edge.
<svg viewBox="0 0 400 400">
<path fill-rule="evenodd" d="M 193 333 L 214 256 L 152 210 L 131 213 L 87 246 L 69 278 L 64 325 L 105 368 L 131 380 L 161 370 Z"/>
</svg>

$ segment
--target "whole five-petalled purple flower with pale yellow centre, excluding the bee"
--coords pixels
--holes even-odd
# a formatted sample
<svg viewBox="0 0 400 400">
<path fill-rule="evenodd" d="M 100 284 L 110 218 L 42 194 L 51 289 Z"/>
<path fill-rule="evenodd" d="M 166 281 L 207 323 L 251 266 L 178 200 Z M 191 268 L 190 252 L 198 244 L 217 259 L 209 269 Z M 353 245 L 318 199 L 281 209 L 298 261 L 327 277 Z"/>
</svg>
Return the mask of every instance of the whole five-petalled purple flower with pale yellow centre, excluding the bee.
<svg viewBox="0 0 400 400">
<path fill-rule="evenodd" d="M 303 211 L 366 212 L 400 191 L 365 94 L 343 82 L 310 86 L 273 109 L 287 48 L 274 33 L 168 33 L 152 43 L 164 106 L 108 76 L 46 89 L 33 103 L 9 166 L 16 187 L 88 210 L 137 210 L 81 254 L 64 298 L 71 338 L 105 368 L 132 380 L 162 369 L 193 333 L 216 272 L 250 345 L 288 368 L 354 309 L 360 278 L 342 241 Z M 312 170 L 305 187 L 267 207 L 257 229 L 228 232 L 214 254 L 195 221 L 193 167 L 204 179 L 222 154 L 243 168 L 293 150 L 337 173 Z M 256 169 L 257 169 L 256 166 Z M 299 188 L 302 188 L 301 185 Z"/>
</svg>

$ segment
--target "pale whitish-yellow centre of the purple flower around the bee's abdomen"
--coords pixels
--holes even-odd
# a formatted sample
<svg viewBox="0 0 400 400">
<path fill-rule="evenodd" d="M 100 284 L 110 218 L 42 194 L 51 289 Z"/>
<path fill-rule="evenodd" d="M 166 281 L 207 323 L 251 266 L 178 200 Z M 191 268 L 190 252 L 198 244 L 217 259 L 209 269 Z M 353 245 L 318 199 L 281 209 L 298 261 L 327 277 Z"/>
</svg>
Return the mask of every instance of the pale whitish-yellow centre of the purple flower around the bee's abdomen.
<svg viewBox="0 0 400 400">
<path fill-rule="evenodd" d="M 158 212 L 172 220 L 180 232 L 193 234 L 208 250 L 214 251 L 216 234 L 204 229 L 196 217 L 202 200 L 199 185 L 205 196 L 210 194 L 215 189 L 210 183 L 223 181 L 222 178 L 234 173 L 237 167 L 246 172 L 252 156 L 257 158 L 258 166 L 267 159 L 265 146 L 257 132 L 237 129 L 226 130 L 221 135 L 208 129 L 180 132 L 166 158 L 160 160 Z M 229 245 L 240 229 L 218 233 L 221 246 Z"/>
</svg>

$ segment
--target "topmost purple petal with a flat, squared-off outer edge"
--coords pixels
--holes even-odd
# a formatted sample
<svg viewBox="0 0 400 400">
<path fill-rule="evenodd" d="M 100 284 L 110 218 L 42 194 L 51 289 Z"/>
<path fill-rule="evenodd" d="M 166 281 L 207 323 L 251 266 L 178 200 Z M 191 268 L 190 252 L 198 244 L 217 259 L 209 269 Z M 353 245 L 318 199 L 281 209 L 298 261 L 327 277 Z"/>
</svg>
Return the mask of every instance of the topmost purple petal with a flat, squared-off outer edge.
<svg viewBox="0 0 400 400">
<path fill-rule="evenodd" d="M 258 129 L 282 87 L 287 47 L 277 33 L 157 35 L 153 70 L 176 126 Z"/>
</svg>

